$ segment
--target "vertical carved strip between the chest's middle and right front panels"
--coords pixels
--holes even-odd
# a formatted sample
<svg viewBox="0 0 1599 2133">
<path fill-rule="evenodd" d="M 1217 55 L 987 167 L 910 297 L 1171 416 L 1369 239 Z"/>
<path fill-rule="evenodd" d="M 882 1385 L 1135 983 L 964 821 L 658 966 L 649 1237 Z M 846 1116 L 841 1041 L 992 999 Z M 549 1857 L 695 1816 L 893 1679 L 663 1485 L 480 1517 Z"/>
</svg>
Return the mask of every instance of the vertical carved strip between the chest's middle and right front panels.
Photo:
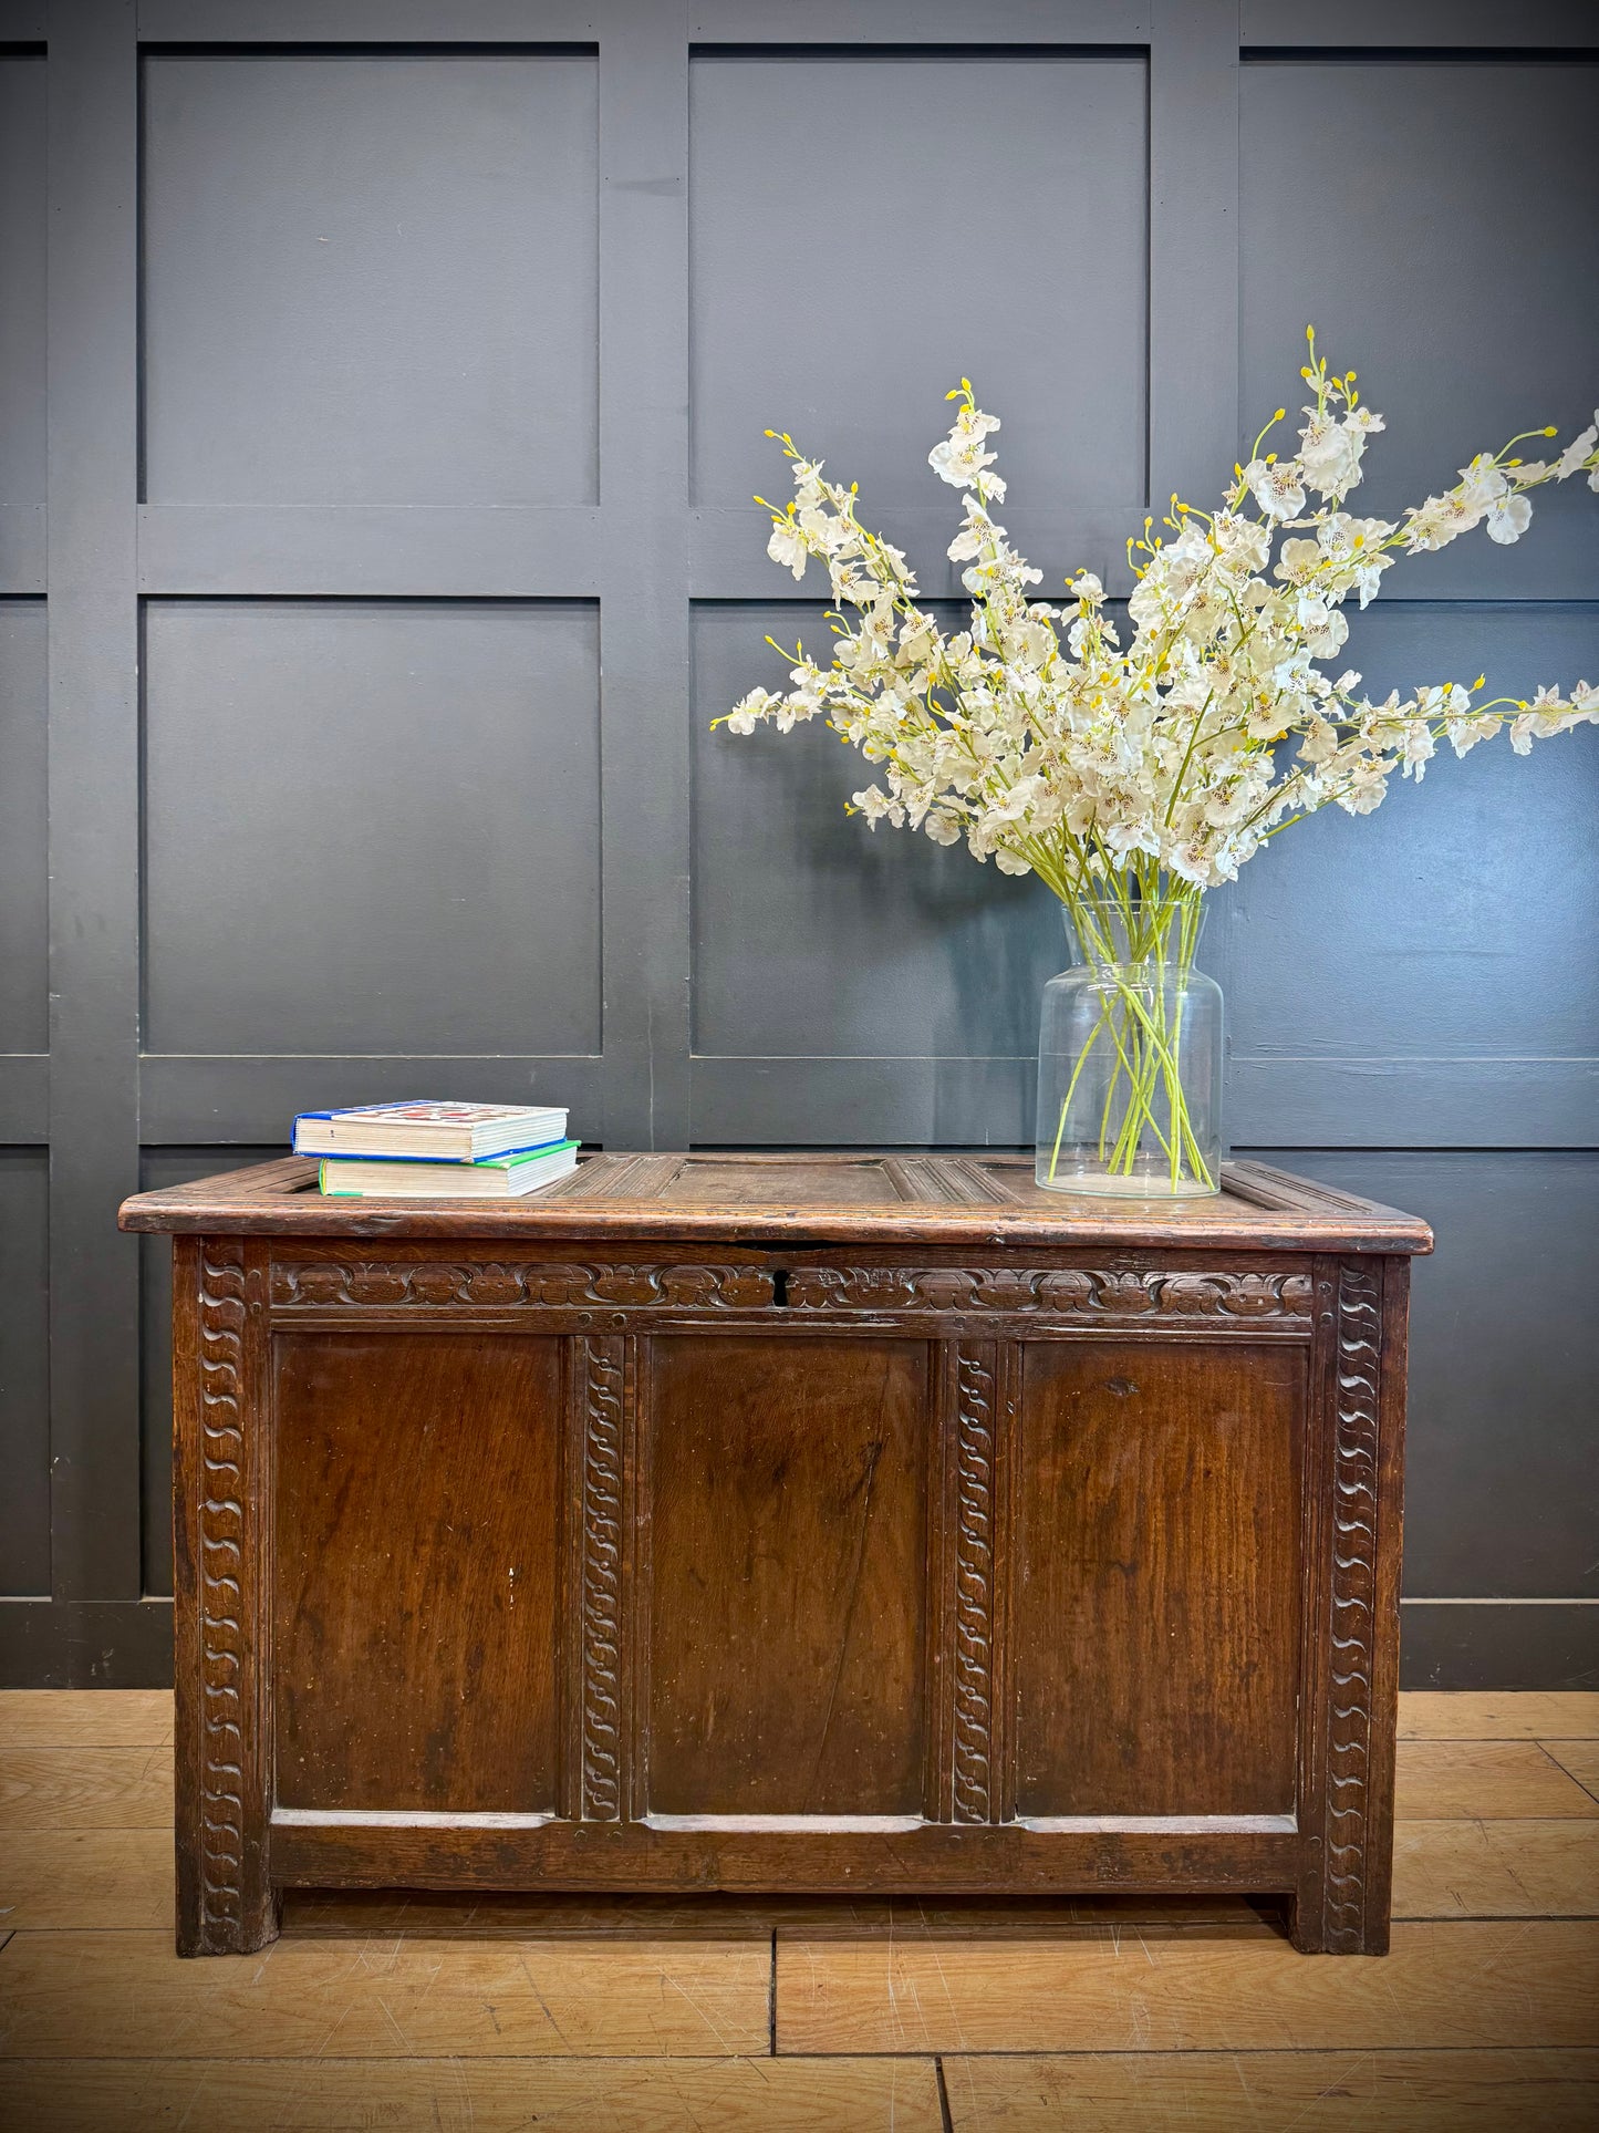
<svg viewBox="0 0 1599 2133">
<path fill-rule="evenodd" d="M 994 1770 L 994 1367 L 955 1357 L 953 1817 L 987 1822 Z"/>
</svg>

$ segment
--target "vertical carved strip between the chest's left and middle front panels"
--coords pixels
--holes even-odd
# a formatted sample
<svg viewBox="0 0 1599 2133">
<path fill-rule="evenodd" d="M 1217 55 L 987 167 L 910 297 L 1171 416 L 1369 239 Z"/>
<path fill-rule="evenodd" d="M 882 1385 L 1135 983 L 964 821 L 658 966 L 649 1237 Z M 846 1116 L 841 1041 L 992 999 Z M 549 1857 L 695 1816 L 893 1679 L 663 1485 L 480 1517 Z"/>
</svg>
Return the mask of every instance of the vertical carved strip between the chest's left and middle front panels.
<svg viewBox="0 0 1599 2133">
<path fill-rule="evenodd" d="M 623 1811 L 623 1391 L 620 1340 L 578 1348 L 582 1399 L 582 1817 Z"/>
</svg>

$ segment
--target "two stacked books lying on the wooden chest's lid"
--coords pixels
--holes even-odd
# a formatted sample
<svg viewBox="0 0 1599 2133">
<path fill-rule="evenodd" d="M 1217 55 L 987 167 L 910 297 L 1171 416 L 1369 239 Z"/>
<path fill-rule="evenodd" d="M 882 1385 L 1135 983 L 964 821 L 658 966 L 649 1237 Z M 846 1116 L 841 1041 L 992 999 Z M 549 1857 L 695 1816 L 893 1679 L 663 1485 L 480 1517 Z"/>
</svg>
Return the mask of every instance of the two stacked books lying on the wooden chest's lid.
<svg viewBox="0 0 1599 2133">
<path fill-rule="evenodd" d="M 578 1167 L 567 1113 L 507 1103 L 367 1103 L 301 1111 L 294 1154 L 330 1199 L 520 1199 Z"/>
</svg>

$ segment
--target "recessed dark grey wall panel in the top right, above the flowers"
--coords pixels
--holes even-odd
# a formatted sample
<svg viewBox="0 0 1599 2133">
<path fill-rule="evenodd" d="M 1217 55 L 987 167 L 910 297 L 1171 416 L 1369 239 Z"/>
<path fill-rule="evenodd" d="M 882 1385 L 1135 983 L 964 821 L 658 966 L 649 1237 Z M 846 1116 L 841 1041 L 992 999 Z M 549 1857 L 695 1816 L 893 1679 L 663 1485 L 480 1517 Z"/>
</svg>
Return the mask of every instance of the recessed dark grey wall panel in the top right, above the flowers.
<svg viewBox="0 0 1599 2133">
<path fill-rule="evenodd" d="M 1394 518 L 1473 452 L 1590 420 L 1599 64 L 1294 60 L 1245 66 L 1241 90 L 1247 435 L 1273 407 L 1301 420 L 1307 322 L 1388 420 L 1360 510 Z M 1311 141 L 1337 143 L 1337 179 Z M 1541 450 L 1537 437 L 1522 446 L 1527 459 Z M 1477 535 L 1401 567 L 1396 591 L 1422 580 L 1456 595 L 1593 597 L 1599 512 L 1567 482 L 1518 546 Z"/>
</svg>

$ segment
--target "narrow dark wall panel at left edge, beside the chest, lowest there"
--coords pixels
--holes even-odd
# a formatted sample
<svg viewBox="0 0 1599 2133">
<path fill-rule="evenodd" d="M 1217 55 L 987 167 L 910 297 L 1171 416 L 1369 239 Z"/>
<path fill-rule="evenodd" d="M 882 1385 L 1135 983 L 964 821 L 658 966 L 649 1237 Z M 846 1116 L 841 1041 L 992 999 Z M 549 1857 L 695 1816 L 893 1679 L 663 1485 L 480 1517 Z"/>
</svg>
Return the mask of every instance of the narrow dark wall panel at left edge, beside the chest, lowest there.
<svg viewBox="0 0 1599 2133">
<path fill-rule="evenodd" d="M 49 1591 L 49 1160 L 0 1148 L 0 1595 Z"/>
</svg>

